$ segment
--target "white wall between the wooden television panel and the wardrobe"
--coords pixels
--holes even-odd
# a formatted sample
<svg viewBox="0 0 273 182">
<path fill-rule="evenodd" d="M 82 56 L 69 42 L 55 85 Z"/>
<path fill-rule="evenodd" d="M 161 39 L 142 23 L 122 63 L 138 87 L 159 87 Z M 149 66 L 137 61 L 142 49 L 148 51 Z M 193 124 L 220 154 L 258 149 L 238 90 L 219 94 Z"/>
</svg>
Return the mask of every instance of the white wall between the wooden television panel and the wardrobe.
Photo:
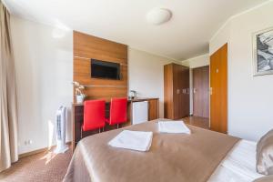
<svg viewBox="0 0 273 182">
<path fill-rule="evenodd" d="M 140 97 L 159 97 L 159 116 L 164 117 L 164 65 L 174 62 L 133 48 L 128 50 L 129 90 Z"/>
</svg>

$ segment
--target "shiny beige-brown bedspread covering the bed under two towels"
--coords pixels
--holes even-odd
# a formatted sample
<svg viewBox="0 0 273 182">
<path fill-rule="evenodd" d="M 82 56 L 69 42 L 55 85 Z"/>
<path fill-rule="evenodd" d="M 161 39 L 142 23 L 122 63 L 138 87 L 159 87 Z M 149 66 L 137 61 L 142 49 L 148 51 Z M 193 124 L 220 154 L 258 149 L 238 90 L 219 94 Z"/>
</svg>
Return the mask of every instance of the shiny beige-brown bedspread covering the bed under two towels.
<svg viewBox="0 0 273 182">
<path fill-rule="evenodd" d="M 188 127 L 191 135 L 160 134 L 157 121 L 126 127 L 154 132 L 148 152 L 109 147 L 107 143 L 124 128 L 88 136 L 78 143 L 64 181 L 205 182 L 238 138 Z"/>
</svg>

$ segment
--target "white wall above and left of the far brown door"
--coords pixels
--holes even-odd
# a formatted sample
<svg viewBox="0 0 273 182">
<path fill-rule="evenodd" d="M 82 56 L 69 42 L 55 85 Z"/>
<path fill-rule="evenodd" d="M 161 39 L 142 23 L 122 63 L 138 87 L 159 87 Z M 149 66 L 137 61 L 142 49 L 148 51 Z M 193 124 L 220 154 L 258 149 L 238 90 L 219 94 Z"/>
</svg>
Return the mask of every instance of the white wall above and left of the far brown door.
<svg viewBox="0 0 273 182">
<path fill-rule="evenodd" d="M 209 66 L 209 55 L 202 55 L 181 61 L 182 65 L 189 66 L 189 114 L 193 115 L 193 75 L 192 69 Z"/>
</svg>

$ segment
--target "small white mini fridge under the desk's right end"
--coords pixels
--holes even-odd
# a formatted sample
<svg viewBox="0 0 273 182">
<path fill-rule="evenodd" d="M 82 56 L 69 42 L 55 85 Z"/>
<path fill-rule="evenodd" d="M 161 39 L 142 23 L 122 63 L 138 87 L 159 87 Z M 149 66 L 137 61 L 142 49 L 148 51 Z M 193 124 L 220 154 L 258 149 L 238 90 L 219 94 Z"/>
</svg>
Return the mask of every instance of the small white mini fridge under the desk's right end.
<svg viewBox="0 0 273 182">
<path fill-rule="evenodd" d="M 148 120 L 148 102 L 133 102 L 133 116 L 132 123 L 136 125 L 138 123 L 144 123 Z"/>
</svg>

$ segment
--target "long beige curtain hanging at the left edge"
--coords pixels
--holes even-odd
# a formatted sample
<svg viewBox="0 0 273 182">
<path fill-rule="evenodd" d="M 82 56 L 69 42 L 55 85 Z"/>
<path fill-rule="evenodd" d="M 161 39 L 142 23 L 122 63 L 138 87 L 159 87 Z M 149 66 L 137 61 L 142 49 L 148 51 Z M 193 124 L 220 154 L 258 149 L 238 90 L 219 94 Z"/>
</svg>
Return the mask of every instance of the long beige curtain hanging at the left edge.
<svg viewBox="0 0 273 182">
<path fill-rule="evenodd" d="M 0 0 L 0 172 L 18 160 L 15 61 L 10 15 Z"/>
</svg>

